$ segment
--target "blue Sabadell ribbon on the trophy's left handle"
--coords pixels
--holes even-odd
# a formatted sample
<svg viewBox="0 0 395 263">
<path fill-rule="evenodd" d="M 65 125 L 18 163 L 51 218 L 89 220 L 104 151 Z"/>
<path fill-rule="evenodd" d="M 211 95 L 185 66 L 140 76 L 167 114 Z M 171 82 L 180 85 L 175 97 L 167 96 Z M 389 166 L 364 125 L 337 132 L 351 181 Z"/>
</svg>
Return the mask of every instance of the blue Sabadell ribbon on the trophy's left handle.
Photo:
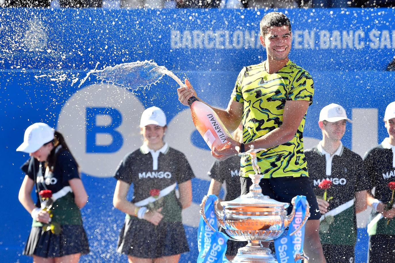
<svg viewBox="0 0 395 263">
<path fill-rule="evenodd" d="M 214 213 L 214 201 L 216 200 L 218 198 L 211 194 L 208 196 L 204 206 L 204 214 L 213 229 L 217 229 L 217 218 Z M 207 226 L 203 216 L 200 216 L 198 228 L 199 256 L 197 263 L 220 263 L 228 261 L 225 257 L 228 237 L 220 231 L 213 231 L 213 229 Z"/>
</svg>

